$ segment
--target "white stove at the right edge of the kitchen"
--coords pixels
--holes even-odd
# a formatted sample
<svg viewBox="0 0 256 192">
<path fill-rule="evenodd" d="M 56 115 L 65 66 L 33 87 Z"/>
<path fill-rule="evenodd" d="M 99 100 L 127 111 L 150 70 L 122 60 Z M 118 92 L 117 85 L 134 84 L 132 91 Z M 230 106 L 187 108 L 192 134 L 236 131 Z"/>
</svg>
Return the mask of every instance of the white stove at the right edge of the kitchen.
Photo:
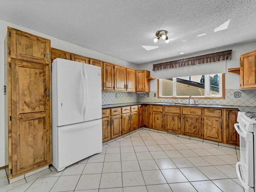
<svg viewBox="0 0 256 192">
<path fill-rule="evenodd" d="M 245 191 L 254 192 L 256 176 L 256 113 L 238 112 L 234 128 L 240 135 L 240 160 L 236 164 L 238 179 Z"/>
</svg>

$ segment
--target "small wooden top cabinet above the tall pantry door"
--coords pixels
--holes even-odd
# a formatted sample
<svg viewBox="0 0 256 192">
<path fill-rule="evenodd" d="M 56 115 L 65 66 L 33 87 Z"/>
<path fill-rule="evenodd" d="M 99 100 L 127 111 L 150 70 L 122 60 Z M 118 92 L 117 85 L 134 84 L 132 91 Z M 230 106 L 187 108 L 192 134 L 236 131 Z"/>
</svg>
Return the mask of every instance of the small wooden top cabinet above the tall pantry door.
<svg viewBox="0 0 256 192">
<path fill-rule="evenodd" d="M 51 41 L 8 27 L 11 39 L 8 54 L 11 59 L 50 64 Z"/>
</svg>

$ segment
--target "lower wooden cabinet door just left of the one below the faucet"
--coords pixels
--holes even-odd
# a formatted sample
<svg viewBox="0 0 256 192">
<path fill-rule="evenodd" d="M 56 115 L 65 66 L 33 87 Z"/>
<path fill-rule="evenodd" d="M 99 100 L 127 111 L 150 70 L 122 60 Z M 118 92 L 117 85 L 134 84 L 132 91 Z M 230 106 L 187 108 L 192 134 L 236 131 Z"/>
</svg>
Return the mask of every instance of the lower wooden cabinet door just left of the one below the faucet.
<svg viewBox="0 0 256 192">
<path fill-rule="evenodd" d="M 170 133 L 180 134 L 180 114 L 165 113 L 164 115 L 165 130 Z"/>
</svg>

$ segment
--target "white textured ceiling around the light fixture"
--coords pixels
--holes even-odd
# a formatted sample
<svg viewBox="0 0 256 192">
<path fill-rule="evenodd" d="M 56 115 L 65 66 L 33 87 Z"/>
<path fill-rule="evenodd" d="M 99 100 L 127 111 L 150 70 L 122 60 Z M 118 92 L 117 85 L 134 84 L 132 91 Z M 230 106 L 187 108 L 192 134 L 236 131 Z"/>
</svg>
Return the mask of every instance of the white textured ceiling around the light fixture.
<svg viewBox="0 0 256 192">
<path fill-rule="evenodd" d="M 256 40 L 255 10 L 255 0 L 0 0 L 2 20 L 136 64 Z M 168 44 L 153 42 L 160 29 Z"/>
</svg>

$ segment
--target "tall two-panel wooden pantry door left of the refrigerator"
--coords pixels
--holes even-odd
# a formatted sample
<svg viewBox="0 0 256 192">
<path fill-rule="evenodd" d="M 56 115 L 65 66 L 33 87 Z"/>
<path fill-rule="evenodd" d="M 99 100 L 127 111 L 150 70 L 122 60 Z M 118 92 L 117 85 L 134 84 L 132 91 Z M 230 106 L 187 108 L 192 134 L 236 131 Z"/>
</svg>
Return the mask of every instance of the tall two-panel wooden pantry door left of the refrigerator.
<svg viewBox="0 0 256 192">
<path fill-rule="evenodd" d="M 11 61 L 9 178 L 51 163 L 50 67 Z"/>
</svg>

